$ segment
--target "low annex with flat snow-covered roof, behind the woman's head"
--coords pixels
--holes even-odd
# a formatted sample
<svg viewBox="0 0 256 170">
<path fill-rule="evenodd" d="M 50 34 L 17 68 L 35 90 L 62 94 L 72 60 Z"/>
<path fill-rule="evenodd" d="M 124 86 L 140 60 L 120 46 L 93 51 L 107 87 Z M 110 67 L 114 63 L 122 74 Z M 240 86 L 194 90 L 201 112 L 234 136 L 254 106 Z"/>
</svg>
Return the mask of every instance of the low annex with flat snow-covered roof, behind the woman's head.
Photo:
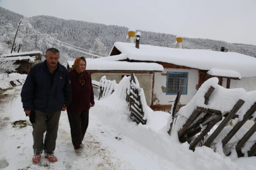
<svg viewBox="0 0 256 170">
<path fill-rule="evenodd" d="M 108 80 L 115 80 L 119 83 L 124 76 L 131 76 L 134 72 L 139 81 L 139 85 L 144 89 L 146 102 L 151 105 L 151 89 L 153 83 L 153 74 L 163 71 L 163 66 L 156 63 L 147 62 L 121 62 L 107 60 L 108 57 L 101 59 L 86 59 L 86 71 L 90 72 L 91 79 L 100 81 L 102 76 Z M 106 59 L 106 60 L 104 60 Z M 74 61 L 67 61 L 67 69 L 71 69 Z"/>
</svg>

